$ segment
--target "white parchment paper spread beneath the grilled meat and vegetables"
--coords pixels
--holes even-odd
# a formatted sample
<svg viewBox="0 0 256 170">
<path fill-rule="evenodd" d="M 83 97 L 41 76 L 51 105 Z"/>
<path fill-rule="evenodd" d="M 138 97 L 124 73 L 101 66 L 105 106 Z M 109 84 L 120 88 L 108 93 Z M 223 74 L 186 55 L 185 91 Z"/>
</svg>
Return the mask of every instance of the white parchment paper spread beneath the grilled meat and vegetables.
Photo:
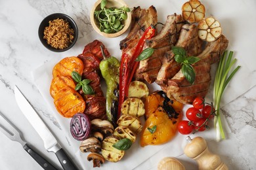
<svg viewBox="0 0 256 170">
<path fill-rule="evenodd" d="M 89 6 L 93 5 L 92 2 L 93 1 L 89 1 Z M 181 13 L 181 7 L 184 2 L 149 0 L 136 1 L 136 3 L 134 1 L 127 1 L 127 3 L 130 7 L 140 5 L 142 8 L 148 8 L 150 5 L 154 5 L 158 10 L 158 20 L 164 23 L 165 18 L 168 14 L 173 14 L 174 12 L 177 12 L 177 14 Z M 250 18 L 254 17 L 255 19 L 255 16 L 249 14 L 248 8 L 252 9 L 252 7 L 247 6 L 246 3 L 242 3 L 242 1 L 232 1 L 232 8 L 230 8 L 229 4 L 231 2 L 228 1 L 203 1 L 203 3 L 205 3 L 207 9 L 207 16 L 213 15 L 221 22 L 223 27 L 223 33 L 230 40 L 228 50 L 235 51 L 234 57 L 238 59 L 236 65 L 242 65 L 241 69 L 234 76 L 224 92 L 221 105 L 226 105 L 227 103 L 236 99 L 236 97 L 242 95 L 244 92 L 246 92 L 256 84 L 256 74 L 255 71 L 253 71 L 255 62 L 248 62 L 255 61 L 255 59 L 253 59 L 254 56 L 249 50 L 244 50 L 246 48 L 253 49 L 253 44 L 255 44 L 255 42 L 253 41 L 256 38 L 253 27 L 250 27 L 250 22 L 246 22 L 244 18 L 248 16 Z M 236 25 L 238 20 L 240 21 L 239 25 L 243 25 L 243 23 L 246 22 L 247 31 L 244 31 L 244 26 L 241 27 L 239 25 Z M 244 38 L 247 33 L 251 33 L 251 38 Z M 119 41 L 121 41 L 121 39 L 124 39 L 126 35 L 127 33 L 125 35 L 122 35 L 121 37 L 106 39 L 93 31 L 89 35 L 84 36 L 83 42 L 85 45 L 95 39 L 98 39 L 105 44 L 106 48 L 108 48 L 112 56 L 120 58 L 121 51 L 119 50 Z M 80 51 L 77 51 L 77 54 L 74 54 L 73 56 L 77 56 L 82 51 L 83 48 L 81 48 Z M 68 56 L 62 56 L 62 58 L 64 57 Z M 60 61 L 60 59 L 61 58 L 54 58 L 53 56 L 53 60 L 48 61 L 47 63 L 41 65 L 41 67 L 38 67 L 38 69 L 33 71 L 32 75 L 34 78 L 34 82 L 41 95 L 43 95 L 43 97 L 45 98 L 45 101 L 47 101 L 47 103 L 49 104 L 49 107 L 51 107 L 53 115 L 56 117 L 58 123 L 62 127 L 63 133 L 55 135 L 66 136 L 67 141 L 62 141 L 62 144 L 71 154 L 72 158 L 79 162 L 80 167 L 82 167 L 83 169 L 95 169 L 93 168 L 92 163 L 87 161 L 87 154 L 81 153 L 79 151 L 79 141 L 75 141 L 75 139 L 73 139 L 70 135 L 70 119 L 64 118 L 60 114 L 58 114 L 53 104 L 53 98 L 49 94 L 49 88 L 52 80 L 52 70 L 54 65 L 58 61 Z M 213 65 L 211 70 L 212 79 L 215 75 L 215 68 L 216 65 Z M 106 87 L 103 86 L 102 88 L 106 90 Z M 156 84 L 150 85 L 149 88 L 150 92 L 154 92 L 154 90 L 160 89 Z M 208 101 L 212 100 L 212 92 L 213 90 L 211 86 L 207 95 Z M 184 110 L 188 107 L 190 106 L 187 105 Z M 205 139 L 214 140 L 215 130 L 213 126 L 211 127 L 212 129 L 210 131 L 204 131 L 199 135 L 205 137 Z M 184 135 L 177 134 L 175 139 L 167 144 L 162 144 L 160 146 L 146 146 L 144 148 L 139 146 L 139 139 L 137 139 L 135 144 L 133 144 L 133 146 L 129 150 L 127 150 L 127 152 L 125 152 L 123 160 L 119 161 L 118 163 L 105 163 L 104 165 L 102 165 L 102 167 L 100 167 L 100 169 L 156 169 L 158 161 L 160 161 L 160 159 L 164 156 L 176 157 L 183 154 L 182 148 L 186 143 L 184 139 Z"/>
</svg>

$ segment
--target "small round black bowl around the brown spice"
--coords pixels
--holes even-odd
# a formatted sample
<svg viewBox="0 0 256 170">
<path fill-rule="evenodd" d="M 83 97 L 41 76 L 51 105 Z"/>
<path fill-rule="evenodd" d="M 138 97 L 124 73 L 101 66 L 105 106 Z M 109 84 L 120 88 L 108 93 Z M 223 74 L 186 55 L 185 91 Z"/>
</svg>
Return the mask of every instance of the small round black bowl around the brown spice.
<svg viewBox="0 0 256 170">
<path fill-rule="evenodd" d="M 70 24 L 70 27 L 72 27 L 72 29 L 74 29 L 74 39 L 73 39 L 73 41 L 69 44 L 68 47 L 63 48 L 63 49 L 53 48 L 51 45 L 47 44 L 46 39 L 43 39 L 43 36 L 44 36 L 43 31 L 45 30 L 45 27 L 49 26 L 49 21 L 56 20 L 58 18 L 63 19 L 63 20 L 67 20 L 68 23 Z M 64 51 L 72 48 L 72 46 L 74 46 L 75 42 L 77 41 L 78 28 L 77 28 L 77 25 L 75 24 L 74 20 L 70 16 L 68 16 L 66 14 L 55 13 L 55 14 L 51 14 L 51 15 L 45 17 L 45 19 L 43 19 L 43 21 L 39 25 L 38 36 L 39 36 L 39 39 L 42 42 L 42 44 L 46 48 L 48 48 L 49 50 L 51 50 L 53 52 L 64 52 Z"/>
</svg>

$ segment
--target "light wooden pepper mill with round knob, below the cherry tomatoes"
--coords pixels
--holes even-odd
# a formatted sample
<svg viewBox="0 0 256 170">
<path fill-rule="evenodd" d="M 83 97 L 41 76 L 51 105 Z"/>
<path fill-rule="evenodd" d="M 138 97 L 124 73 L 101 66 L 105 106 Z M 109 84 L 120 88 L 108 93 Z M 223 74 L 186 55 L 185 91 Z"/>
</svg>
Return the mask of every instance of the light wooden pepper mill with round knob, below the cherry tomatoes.
<svg viewBox="0 0 256 170">
<path fill-rule="evenodd" d="M 195 137 L 194 139 L 186 137 L 186 140 L 189 143 L 184 148 L 184 154 L 198 162 L 198 169 L 228 169 L 219 156 L 209 152 L 206 141 L 202 137 Z"/>
</svg>

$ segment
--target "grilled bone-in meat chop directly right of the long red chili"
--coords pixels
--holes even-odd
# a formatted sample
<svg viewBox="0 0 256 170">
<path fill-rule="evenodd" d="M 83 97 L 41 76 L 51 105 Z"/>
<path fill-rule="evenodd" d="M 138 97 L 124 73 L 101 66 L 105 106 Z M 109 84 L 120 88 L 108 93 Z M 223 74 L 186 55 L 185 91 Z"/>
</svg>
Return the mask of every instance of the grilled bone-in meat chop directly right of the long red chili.
<svg viewBox="0 0 256 170">
<path fill-rule="evenodd" d="M 184 25 L 184 20 L 181 15 L 167 16 L 167 21 L 160 33 L 145 42 L 144 49 L 154 48 L 155 51 L 150 58 L 140 61 L 135 79 L 146 80 L 148 83 L 156 80 L 161 68 L 161 60 L 165 52 L 171 50 L 171 47 L 178 41 L 182 25 Z"/>
</svg>

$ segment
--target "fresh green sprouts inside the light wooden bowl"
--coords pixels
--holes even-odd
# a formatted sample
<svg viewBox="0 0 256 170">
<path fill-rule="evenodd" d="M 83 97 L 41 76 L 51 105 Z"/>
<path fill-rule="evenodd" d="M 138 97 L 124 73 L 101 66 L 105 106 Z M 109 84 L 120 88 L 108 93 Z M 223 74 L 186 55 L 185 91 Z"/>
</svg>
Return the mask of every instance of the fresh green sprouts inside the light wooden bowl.
<svg viewBox="0 0 256 170">
<path fill-rule="evenodd" d="M 95 10 L 95 19 L 98 22 L 98 27 L 104 33 L 117 33 L 124 27 L 124 22 L 127 20 L 127 12 L 131 10 L 128 7 L 106 7 L 107 1 L 102 0 L 100 10 Z"/>
</svg>

